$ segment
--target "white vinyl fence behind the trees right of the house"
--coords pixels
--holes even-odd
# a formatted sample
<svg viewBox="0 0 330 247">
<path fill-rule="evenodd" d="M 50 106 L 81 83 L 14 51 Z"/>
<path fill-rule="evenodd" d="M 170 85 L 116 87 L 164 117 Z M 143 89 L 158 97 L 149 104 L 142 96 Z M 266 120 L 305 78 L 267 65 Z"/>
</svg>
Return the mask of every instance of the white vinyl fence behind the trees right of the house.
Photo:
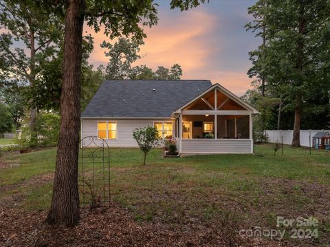
<svg viewBox="0 0 330 247">
<path fill-rule="evenodd" d="M 304 147 L 309 147 L 309 137 L 310 145 L 313 145 L 313 137 L 317 132 L 330 132 L 330 130 L 300 130 L 300 145 Z M 281 143 L 283 137 L 283 144 L 292 143 L 292 137 L 294 130 L 265 130 L 265 134 L 270 143 Z"/>
</svg>

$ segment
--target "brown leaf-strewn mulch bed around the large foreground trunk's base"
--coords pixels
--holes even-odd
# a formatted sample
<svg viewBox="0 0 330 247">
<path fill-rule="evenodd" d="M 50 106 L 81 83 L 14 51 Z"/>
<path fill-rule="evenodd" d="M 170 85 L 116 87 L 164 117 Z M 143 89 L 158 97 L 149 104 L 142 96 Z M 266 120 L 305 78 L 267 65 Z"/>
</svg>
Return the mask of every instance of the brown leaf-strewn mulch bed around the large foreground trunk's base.
<svg viewBox="0 0 330 247">
<path fill-rule="evenodd" d="M 44 223 L 46 215 L 47 211 L 0 209 L 0 246 L 281 246 L 278 242 L 228 237 L 198 222 L 184 228 L 138 222 L 130 211 L 115 203 L 94 212 L 88 207 L 81 209 L 80 223 L 73 228 L 49 226 Z"/>
</svg>

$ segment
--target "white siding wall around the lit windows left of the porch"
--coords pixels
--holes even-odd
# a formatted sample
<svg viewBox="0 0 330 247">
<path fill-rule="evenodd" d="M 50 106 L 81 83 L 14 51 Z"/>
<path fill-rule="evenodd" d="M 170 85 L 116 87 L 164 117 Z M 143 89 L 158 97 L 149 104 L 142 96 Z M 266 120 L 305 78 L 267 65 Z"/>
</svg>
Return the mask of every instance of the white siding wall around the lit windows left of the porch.
<svg viewBox="0 0 330 247">
<path fill-rule="evenodd" d="M 154 121 L 173 121 L 173 119 L 82 119 L 81 138 L 98 136 L 98 121 L 117 121 L 117 139 L 106 140 L 109 147 L 137 147 L 133 139 L 135 128 L 153 126 Z M 175 125 L 173 125 L 174 134 Z"/>
</svg>

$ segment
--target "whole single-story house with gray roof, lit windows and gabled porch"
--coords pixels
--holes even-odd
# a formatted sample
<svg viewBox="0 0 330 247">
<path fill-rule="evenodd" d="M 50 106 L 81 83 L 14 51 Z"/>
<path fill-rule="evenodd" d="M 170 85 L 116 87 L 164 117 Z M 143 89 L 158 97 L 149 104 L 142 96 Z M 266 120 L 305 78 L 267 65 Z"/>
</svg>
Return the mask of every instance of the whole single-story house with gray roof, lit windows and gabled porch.
<svg viewBox="0 0 330 247">
<path fill-rule="evenodd" d="M 133 130 L 155 126 L 180 154 L 252 154 L 257 113 L 210 80 L 107 80 L 81 115 L 81 137 L 137 147 Z"/>
</svg>

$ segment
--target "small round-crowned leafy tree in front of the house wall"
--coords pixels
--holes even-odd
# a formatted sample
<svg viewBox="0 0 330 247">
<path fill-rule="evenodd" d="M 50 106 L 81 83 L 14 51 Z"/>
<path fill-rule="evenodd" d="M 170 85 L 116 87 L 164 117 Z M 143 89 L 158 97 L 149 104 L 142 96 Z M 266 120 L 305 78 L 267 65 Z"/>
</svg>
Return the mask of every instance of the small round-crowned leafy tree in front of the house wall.
<svg viewBox="0 0 330 247">
<path fill-rule="evenodd" d="M 139 145 L 140 150 L 144 153 L 143 165 L 146 165 L 146 154 L 159 145 L 159 135 L 156 128 L 146 126 L 133 130 L 133 137 Z"/>
</svg>

